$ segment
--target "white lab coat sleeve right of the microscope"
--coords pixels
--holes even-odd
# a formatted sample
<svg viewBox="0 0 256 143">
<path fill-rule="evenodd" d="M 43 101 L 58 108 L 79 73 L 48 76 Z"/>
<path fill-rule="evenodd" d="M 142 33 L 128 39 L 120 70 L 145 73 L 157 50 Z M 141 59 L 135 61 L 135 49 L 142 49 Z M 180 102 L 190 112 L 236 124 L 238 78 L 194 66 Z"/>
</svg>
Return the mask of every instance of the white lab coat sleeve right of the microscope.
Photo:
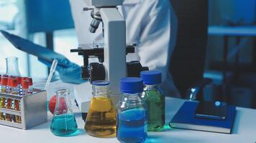
<svg viewBox="0 0 256 143">
<path fill-rule="evenodd" d="M 155 4 L 149 8 L 150 13 L 141 26 L 137 53 L 142 66 L 148 66 L 150 70 L 162 71 L 162 80 L 165 82 L 173 51 L 173 47 L 170 47 L 170 2 L 155 1 Z"/>
</svg>

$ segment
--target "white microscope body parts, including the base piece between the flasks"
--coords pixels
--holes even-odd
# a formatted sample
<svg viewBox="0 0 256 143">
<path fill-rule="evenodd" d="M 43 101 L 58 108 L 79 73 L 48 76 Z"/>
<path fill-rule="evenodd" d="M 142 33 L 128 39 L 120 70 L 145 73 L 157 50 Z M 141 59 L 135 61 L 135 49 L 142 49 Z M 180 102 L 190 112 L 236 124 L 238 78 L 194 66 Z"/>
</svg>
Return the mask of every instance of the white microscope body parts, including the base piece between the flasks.
<svg viewBox="0 0 256 143">
<path fill-rule="evenodd" d="M 104 67 L 106 80 L 110 82 L 111 99 L 116 104 L 119 92 L 120 79 L 127 76 L 126 66 L 126 23 L 116 6 L 120 6 L 123 0 L 85 0 L 87 6 L 93 6 L 96 27 L 92 26 L 92 32 L 96 31 L 100 21 L 104 28 Z M 92 15 L 91 14 L 91 15 Z M 93 15 L 92 15 L 93 17 Z M 99 20 L 100 19 L 100 20 Z M 90 31 L 91 31 L 90 29 Z M 100 30 L 100 29 L 98 29 Z M 78 86 L 76 100 L 81 112 L 87 112 L 91 99 L 91 84 L 81 84 Z M 78 93 L 79 92 L 79 93 Z M 88 95 L 90 94 L 90 95 Z M 89 98 L 88 98 L 89 97 Z"/>
</svg>

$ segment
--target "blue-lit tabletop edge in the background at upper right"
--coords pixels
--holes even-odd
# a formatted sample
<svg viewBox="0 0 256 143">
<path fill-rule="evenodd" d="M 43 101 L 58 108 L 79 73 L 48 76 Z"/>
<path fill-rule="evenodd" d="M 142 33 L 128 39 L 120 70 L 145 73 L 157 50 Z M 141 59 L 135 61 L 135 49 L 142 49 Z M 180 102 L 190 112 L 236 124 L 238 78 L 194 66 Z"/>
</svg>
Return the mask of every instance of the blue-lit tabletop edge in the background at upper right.
<svg viewBox="0 0 256 143">
<path fill-rule="evenodd" d="M 209 26 L 209 35 L 256 36 L 256 26 Z"/>
</svg>

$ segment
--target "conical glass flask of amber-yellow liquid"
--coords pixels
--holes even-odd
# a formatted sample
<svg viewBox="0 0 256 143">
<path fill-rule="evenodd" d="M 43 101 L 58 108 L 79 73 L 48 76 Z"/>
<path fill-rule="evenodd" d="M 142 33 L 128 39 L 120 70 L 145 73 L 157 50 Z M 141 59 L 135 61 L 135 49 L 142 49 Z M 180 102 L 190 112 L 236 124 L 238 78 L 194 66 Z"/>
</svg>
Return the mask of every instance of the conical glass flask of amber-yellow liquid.
<svg viewBox="0 0 256 143">
<path fill-rule="evenodd" d="M 109 82 L 93 82 L 93 98 L 85 129 L 93 137 L 116 137 L 116 108 L 109 98 Z"/>
</svg>

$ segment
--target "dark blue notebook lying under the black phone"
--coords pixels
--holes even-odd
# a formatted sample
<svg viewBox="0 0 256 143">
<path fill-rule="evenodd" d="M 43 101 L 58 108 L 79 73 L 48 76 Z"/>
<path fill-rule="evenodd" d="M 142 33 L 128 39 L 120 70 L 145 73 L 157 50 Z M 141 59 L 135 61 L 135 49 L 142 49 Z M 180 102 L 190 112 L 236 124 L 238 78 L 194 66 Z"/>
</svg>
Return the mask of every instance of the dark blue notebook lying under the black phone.
<svg viewBox="0 0 256 143">
<path fill-rule="evenodd" d="M 226 119 L 214 120 L 196 118 L 195 111 L 197 106 L 198 102 L 185 102 L 170 121 L 170 127 L 231 134 L 236 107 L 229 106 Z"/>
</svg>

